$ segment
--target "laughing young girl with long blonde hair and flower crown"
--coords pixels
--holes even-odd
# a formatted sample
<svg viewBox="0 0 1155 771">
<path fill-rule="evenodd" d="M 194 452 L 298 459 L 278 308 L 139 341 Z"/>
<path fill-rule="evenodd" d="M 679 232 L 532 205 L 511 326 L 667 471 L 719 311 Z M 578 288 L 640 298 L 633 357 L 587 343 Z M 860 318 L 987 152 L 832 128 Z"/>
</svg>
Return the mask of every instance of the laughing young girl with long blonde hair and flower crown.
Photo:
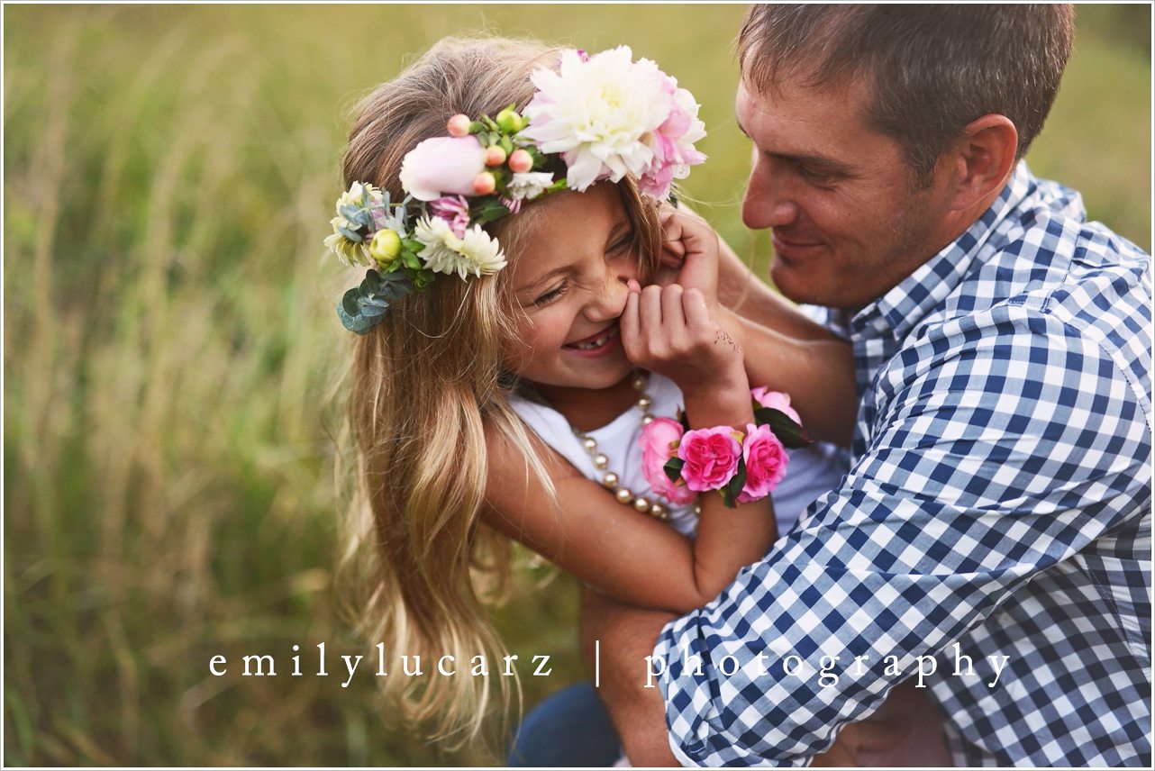
<svg viewBox="0 0 1155 771">
<path fill-rule="evenodd" d="M 688 92 L 628 48 L 447 39 L 362 105 L 327 240 L 371 268 L 338 309 L 358 332 L 345 568 L 368 578 L 362 631 L 437 663 L 395 665 L 383 687 L 457 746 L 478 739 L 492 681 L 509 698 L 485 600 L 511 539 L 687 612 L 842 473 L 828 447 L 787 464 L 751 382 L 802 384 L 797 413 L 755 396 L 821 425 L 845 390 L 810 385 L 849 367 L 813 354 L 830 343 L 800 317 L 805 335 L 744 361 L 754 327 L 717 304 L 716 235 L 658 204 L 703 134 Z"/>
</svg>

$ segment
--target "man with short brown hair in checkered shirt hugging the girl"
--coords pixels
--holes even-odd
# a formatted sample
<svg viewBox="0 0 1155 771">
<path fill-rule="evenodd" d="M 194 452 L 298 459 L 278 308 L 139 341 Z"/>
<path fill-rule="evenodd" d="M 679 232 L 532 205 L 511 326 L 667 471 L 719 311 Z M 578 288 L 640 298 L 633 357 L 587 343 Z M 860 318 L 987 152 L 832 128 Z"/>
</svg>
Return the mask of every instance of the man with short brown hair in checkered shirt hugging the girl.
<svg viewBox="0 0 1155 771">
<path fill-rule="evenodd" d="M 1072 17 L 747 13 L 743 218 L 854 346 L 852 466 L 701 611 L 588 593 L 635 765 L 803 765 L 912 675 L 955 764 L 1150 765 L 1149 257 L 1021 162 Z"/>
</svg>

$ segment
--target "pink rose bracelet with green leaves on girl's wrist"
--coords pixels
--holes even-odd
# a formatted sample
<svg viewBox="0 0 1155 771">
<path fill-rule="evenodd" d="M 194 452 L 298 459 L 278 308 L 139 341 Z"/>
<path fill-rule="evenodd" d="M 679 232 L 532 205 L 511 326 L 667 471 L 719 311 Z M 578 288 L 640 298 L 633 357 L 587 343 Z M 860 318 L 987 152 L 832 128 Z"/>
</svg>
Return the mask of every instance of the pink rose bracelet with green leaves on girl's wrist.
<svg viewBox="0 0 1155 771">
<path fill-rule="evenodd" d="M 754 422 L 745 432 L 691 429 L 681 411 L 678 420 L 655 418 L 643 426 L 642 473 L 654 494 L 686 504 L 718 491 L 730 508 L 769 495 L 787 474 L 787 447 L 805 447 L 810 437 L 787 394 L 755 388 L 751 397 Z"/>
</svg>

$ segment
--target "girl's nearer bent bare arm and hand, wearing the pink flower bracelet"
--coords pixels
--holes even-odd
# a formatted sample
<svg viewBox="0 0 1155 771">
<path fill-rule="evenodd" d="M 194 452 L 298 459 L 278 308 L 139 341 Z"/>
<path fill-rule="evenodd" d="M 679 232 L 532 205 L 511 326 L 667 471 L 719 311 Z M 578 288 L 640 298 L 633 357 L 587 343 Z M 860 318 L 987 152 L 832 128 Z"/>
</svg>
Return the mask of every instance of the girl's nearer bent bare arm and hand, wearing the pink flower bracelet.
<svg viewBox="0 0 1155 771">
<path fill-rule="evenodd" d="M 679 385 L 692 429 L 753 424 L 742 350 L 709 316 L 698 290 L 677 284 L 641 290 L 632 282 L 620 320 L 629 359 Z M 595 589 L 617 599 L 686 613 L 714 599 L 777 537 L 769 497 L 730 509 L 699 494 L 698 537 L 690 541 L 648 515 L 617 503 L 544 447 L 560 510 L 528 472 L 522 452 L 490 436 L 486 521 Z"/>
</svg>

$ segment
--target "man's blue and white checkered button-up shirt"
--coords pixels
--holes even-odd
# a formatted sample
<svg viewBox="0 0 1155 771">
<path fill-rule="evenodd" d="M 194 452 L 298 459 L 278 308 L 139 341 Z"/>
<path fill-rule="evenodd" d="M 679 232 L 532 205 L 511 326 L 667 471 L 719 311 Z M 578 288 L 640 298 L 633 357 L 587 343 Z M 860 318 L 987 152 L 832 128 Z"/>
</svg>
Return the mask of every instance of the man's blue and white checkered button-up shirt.
<svg viewBox="0 0 1155 771">
<path fill-rule="evenodd" d="M 849 474 L 654 650 L 681 763 L 806 765 L 933 665 L 959 765 L 1150 766 L 1150 257 L 1085 217 L 1020 164 L 849 321 Z"/>
</svg>

